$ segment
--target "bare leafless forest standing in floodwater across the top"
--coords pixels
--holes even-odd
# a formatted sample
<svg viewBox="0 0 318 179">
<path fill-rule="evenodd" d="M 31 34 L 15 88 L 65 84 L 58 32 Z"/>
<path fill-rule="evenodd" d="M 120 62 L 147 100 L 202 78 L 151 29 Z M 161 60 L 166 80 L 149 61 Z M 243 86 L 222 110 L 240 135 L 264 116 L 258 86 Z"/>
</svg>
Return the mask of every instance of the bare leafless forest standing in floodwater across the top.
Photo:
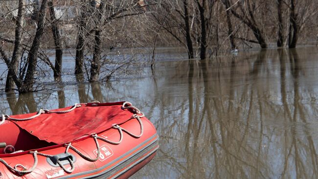
<svg viewBox="0 0 318 179">
<path fill-rule="evenodd" d="M 0 1 L 0 63 L 5 66 L 0 75 L 6 92 L 35 91 L 45 67 L 60 82 L 70 49 L 71 74 L 97 82 L 153 67 L 159 47 L 207 59 L 317 42 L 317 0 Z M 140 53 L 147 58 L 140 60 Z"/>
</svg>

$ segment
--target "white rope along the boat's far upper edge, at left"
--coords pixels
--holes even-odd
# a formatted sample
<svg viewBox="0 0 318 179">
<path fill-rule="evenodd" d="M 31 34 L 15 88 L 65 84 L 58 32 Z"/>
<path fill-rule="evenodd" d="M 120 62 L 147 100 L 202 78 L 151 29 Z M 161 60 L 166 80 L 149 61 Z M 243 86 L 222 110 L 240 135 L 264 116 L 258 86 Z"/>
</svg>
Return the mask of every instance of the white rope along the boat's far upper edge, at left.
<svg viewBox="0 0 318 179">
<path fill-rule="evenodd" d="M 8 120 L 8 119 L 14 120 L 14 121 L 28 121 L 28 120 L 34 119 L 34 118 L 36 118 L 36 117 L 38 117 L 38 116 L 40 116 L 41 114 L 44 114 L 44 113 L 58 113 L 58 114 L 68 113 L 68 112 L 71 112 L 72 110 L 74 110 L 77 107 L 81 107 L 81 104 L 75 103 L 72 106 L 72 108 L 70 108 L 68 110 L 64 110 L 64 111 L 50 111 L 48 109 L 40 109 L 39 112 L 36 115 L 28 117 L 28 118 L 12 118 L 12 117 L 10 117 L 7 114 L 2 114 L 0 125 L 2 125 L 4 123 L 4 121 Z"/>
</svg>

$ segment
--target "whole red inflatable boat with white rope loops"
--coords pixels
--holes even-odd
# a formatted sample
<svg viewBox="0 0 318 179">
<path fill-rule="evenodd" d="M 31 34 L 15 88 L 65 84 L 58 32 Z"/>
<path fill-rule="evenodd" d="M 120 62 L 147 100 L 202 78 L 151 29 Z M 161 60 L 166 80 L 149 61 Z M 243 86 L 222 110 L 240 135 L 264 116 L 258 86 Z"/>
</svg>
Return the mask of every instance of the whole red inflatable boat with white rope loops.
<svg viewBox="0 0 318 179">
<path fill-rule="evenodd" d="M 0 179 L 128 178 L 158 149 L 130 102 L 80 103 L 0 116 Z"/>
</svg>

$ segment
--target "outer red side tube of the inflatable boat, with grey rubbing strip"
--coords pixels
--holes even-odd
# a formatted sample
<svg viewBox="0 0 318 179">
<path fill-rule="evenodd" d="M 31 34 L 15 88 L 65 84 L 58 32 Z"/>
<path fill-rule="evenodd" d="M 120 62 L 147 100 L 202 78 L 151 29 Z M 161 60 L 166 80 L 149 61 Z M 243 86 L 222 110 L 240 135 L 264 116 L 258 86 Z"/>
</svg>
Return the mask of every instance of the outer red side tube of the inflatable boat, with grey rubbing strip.
<svg viewBox="0 0 318 179">
<path fill-rule="evenodd" d="M 1 179 L 125 179 L 132 176 L 140 168 L 146 165 L 155 156 L 158 145 L 158 134 L 153 124 L 145 117 L 140 119 L 143 125 L 143 134 L 140 137 L 134 137 L 127 132 L 122 133 L 120 144 L 111 144 L 99 140 L 100 157 L 96 161 L 88 161 L 72 149 L 68 153 L 74 156 L 74 171 L 68 173 L 60 166 L 52 166 L 48 162 L 48 157 L 38 154 L 38 164 L 33 172 L 19 175 L 8 169 L 0 163 Z M 138 135 L 140 133 L 140 124 L 133 118 L 120 124 L 121 128 Z M 119 141 L 120 134 L 116 128 L 110 128 L 104 132 L 98 133 L 98 136 L 107 138 L 111 141 Z M 81 153 L 91 158 L 96 158 L 97 147 L 94 139 L 89 136 L 73 141 L 71 144 Z M 38 149 L 39 153 L 48 155 L 57 155 L 66 152 L 65 145 L 50 146 Z M 3 157 L 4 156 L 4 157 Z M 30 153 L 15 153 L 9 155 L 0 155 L 0 158 L 14 167 L 16 164 L 23 165 L 29 169 L 34 163 L 33 155 Z M 63 164 L 65 168 L 70 169 L 68 161 Z M 19 167 L 18 167 L 19 168 Z M 20 168 L 21 170 L 21 168 Z"/>
</svg>

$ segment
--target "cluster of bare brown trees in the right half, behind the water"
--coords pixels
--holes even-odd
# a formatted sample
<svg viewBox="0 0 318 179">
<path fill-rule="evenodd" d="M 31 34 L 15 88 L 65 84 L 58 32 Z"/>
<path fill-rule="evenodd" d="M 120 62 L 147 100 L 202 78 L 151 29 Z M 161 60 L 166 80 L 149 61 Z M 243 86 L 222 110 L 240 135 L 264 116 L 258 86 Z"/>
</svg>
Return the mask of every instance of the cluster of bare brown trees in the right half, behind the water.
<svg viewBox="0 0 318 179">
<path fill-rule="evenodd" d="M 315 0 L 158 0 L 156 8 L 155 22 L 187 49 L 189 58 L 252 44 L 295 48 L 301 38 L 318 38 Z"/>
</svg>

